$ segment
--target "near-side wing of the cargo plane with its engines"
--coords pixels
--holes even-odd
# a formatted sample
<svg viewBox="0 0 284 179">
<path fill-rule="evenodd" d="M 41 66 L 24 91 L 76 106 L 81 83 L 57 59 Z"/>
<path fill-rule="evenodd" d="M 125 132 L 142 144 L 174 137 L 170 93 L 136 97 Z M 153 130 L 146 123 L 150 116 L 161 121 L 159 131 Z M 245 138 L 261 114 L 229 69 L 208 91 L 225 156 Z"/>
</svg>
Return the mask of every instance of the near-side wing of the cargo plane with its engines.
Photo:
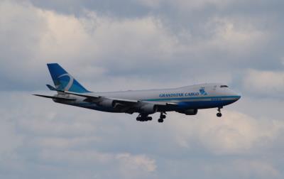
<svg viewBox="0 0 284 179">
<path fill-rule="evenodd" d="M 165 109 L 165 107 L 176 107 L 178 104 L 172 102 L 147 102 L 142 100 L 131 100 L 131 99 L 118 99 L 118 98 L 111 98 L 111 97 L 103 97 L 103 96 L 96 96 L 90 94 L 82 94 L 82 93 L 75 93 L 75 92 L 67 92 L 64 91 L 66 94 L 72 94 L 79 97 L 85 97 L 85 102 L 90 102 L 94 104 L 102 104 L 103 102 L 111 102 L 111 106 L 115 109 L 119 110 L 120 112 L 126 112 L 132 114 L 133 112 L 137 112 L 138 109 L 143 107 L 146 104 L 155 105 L 158 109 Z"/>
</svg>

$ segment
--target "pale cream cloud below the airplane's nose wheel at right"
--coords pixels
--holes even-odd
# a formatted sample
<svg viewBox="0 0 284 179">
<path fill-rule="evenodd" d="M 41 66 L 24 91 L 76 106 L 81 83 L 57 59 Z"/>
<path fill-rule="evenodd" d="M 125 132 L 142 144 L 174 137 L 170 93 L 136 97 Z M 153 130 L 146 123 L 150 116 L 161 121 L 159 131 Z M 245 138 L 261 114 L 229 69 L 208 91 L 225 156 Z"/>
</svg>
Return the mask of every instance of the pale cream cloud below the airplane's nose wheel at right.
<svg viewBox="0 0 284 179">
<path fill-rule="evenodd" d="M 260 121 L 238 112 L 224 112 L 219 123 L 212 115 L 205 119 L 209 121 L 200 129 L 200 137 L 210 151 L 219 154 L 251 152 L 259 145 L 266 147 L 278 135 L 278 130 L 284 129 L 283 123 L 278 126 L 276 121 Z"/>
</svg>

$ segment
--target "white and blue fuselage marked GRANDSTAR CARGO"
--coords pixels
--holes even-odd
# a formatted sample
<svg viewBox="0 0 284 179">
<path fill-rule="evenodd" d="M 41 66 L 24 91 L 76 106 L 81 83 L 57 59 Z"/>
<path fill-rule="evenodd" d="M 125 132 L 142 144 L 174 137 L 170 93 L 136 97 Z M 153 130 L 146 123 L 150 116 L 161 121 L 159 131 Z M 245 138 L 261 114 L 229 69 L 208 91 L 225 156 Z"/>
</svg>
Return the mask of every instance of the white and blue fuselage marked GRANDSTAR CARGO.
<svg viewBox="0 0 284 179">
<path fill-rule="evenodd" d="M 236 102 L 241 97 L 222 84 L 201 84 L 172 89 L 129 90 L 122 92 L 88 92 L 87 94 L 115 99 L 138 100 L 140 102 L 171 102 L 178 104 L 177 107 L 167 107 L 164 111 L 224 107 Z M 116 109 L 84 102 L 84 97 L 76 98 L 75 102 L 64 103 L 104 112 L 119 112 Z"/>
</svg>

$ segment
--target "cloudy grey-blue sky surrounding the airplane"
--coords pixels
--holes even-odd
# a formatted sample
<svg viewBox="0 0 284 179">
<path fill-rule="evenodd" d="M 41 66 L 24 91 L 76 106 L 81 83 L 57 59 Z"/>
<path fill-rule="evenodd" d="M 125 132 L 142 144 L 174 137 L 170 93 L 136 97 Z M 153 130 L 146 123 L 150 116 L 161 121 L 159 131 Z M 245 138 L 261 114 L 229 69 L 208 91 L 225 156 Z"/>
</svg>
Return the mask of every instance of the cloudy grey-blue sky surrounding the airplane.
<svg viewBox="0 0 284 179">
<path fill-rule="evenodd" d="M 284 1 L 1 0 L 0 178 L 284 178 Z M 164 124 L 55 104 L 87 89 L 224 82 L 242 94 Z M 157 114 L 154 115 L 158 119 Z"/>
</svg>

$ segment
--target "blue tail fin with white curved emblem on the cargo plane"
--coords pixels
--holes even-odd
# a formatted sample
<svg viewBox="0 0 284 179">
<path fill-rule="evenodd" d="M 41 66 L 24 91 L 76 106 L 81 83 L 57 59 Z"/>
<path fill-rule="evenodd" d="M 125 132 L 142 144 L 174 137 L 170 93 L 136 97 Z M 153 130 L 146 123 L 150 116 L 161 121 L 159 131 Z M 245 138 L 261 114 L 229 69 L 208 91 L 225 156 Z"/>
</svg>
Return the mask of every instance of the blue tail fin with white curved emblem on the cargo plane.
<svg viewBox="0 0 284 179">
<path fill-rule="evenodd" d="M 89 92 L 74 77 L 66 72 L 58 63 L 49 63 L 48 70 L 57 90 L 84 93 Z"/>
</svg>

